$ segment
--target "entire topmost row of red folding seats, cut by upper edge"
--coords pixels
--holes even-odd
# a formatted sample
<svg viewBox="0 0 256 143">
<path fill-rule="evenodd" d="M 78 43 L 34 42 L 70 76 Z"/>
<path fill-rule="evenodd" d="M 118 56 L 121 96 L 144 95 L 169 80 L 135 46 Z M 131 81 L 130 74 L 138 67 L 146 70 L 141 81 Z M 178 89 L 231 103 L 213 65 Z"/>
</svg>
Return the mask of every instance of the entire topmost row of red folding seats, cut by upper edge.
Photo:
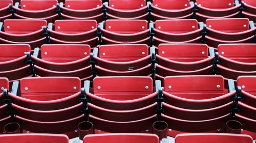
<svg viewBox="0 0 256 143">
<path fill-rule="evenodd" d="M 12 0 L 0 1 L 0 21 L 10 18 L 45 19 L 54 22 L 56 19 L 94 19 L 102 22 L 106 19 L 188 19 L 198 18 L 205 21 L 208 18 L 247 17 L 255 20 L 256 4 L 253 0 L 241 2 L 233 0 L 218 0 L 213 2 L 197 0 L 145 0 L 124 1 L 110 0 L 102 4 L 101 0 L 66 0 L 65 4 L 57 0 L 35 1 L 22 0 L 19 3 Z M 9 5 L 11 4 L 11 5 Z M 14 6 L 12 6 L 14 4 Z M 9 5 L 9 6 L 8 6 Z M 8 12 L 7 10 L 10 9 Z M 256 20 L 255 20 L 256 21 Z"/>
</svg>

